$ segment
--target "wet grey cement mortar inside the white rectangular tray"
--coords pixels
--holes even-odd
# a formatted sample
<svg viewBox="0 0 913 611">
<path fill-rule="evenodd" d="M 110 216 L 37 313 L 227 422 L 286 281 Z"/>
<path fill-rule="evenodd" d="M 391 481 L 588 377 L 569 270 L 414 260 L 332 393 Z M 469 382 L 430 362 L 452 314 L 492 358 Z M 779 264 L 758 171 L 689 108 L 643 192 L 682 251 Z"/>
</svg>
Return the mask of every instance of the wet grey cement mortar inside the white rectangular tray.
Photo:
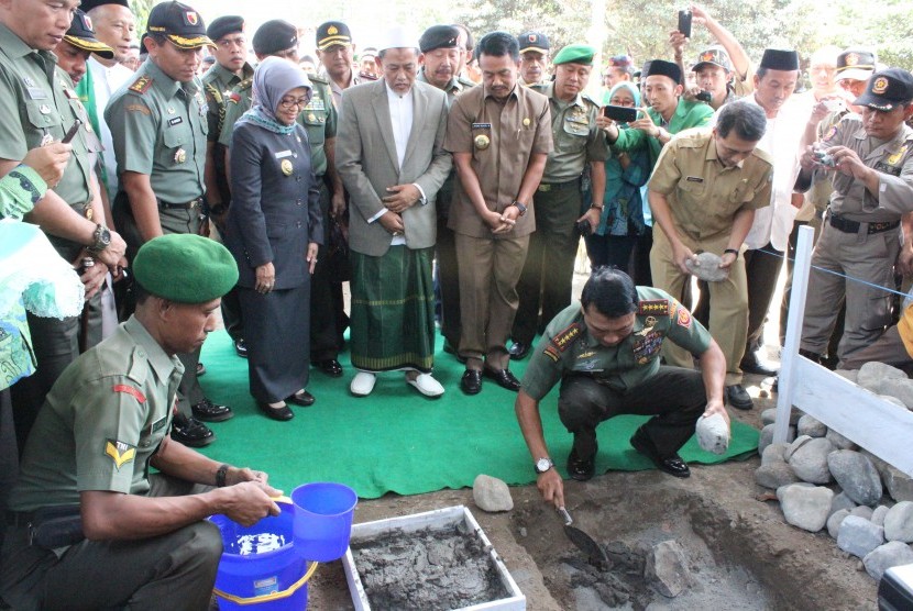
<svg viewBox="0 0 913 611">
<path fill-rule="evenodd" d="M 509 597 L 486 546 L 463 524 L 353 543 L 372 609 L 460 609 Z"/>
</svg>

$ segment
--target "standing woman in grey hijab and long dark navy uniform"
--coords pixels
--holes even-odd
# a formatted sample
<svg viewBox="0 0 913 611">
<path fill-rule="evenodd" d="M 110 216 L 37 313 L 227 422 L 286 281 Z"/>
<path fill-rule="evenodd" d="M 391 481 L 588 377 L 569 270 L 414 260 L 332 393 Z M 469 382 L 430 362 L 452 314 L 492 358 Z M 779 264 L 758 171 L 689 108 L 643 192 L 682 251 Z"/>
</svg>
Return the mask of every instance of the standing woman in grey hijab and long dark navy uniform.
<svg viewBox="0 0 913 611">
<path fill-rule="evenodd" d="M 323 230 L 320 191 L 305 129 L 307 74 L 267 57 L 254 73 L 254 105 L 231 138 L 231 207 L 226 244 L 238 262 L 251 395 L 274 420 L 288 403 L 310 406 L 310 275 Z"/>
</svg>

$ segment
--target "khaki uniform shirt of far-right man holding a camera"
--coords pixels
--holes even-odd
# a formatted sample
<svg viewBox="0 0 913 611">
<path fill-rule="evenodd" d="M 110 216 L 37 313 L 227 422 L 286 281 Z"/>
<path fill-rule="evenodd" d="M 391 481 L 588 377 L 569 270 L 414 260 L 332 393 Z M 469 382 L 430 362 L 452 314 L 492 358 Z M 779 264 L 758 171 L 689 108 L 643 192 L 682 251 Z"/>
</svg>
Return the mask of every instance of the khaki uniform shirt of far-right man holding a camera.
<svg viewBox="0 0 913 611">
<path fill-rule="evenodd" d="M 880 142 L 866 134 L 862 118 L 847 114 L 825 134 L 825 146 L 846 146 L 862 163 L 878 171 L 878 196 L 839 171 L 815 169 L 814 180 L 831 179 L 834 192 L 831 211 L 850 221 L 879 223 L 898 221 L 913 211 L 913 129 L 903 125 L 893 138 Z"/>
</svg>

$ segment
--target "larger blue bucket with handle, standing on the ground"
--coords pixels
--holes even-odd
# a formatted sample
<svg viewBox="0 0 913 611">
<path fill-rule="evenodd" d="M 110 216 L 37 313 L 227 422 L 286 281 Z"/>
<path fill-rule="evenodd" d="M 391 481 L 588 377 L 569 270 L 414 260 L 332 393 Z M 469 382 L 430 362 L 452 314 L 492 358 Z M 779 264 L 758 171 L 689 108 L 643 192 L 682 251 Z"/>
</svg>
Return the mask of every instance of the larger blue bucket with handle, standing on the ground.
<svg viewBox="0 0 913 611">
<path fill-rule="evenodd" d="M 279 515 L 266 516 L 253 526 L 242 526 L 221 514 L 209 519 L 219 526 L 224 545 L 215 588 L 220 610 L 307 608 L 307 581 L 317 563 L 308 567 L 307 560 L 295 553 L 293 506 L 278 504 Z M 270 549 L 258 552 L 258 547 Z"/>
</svg>

